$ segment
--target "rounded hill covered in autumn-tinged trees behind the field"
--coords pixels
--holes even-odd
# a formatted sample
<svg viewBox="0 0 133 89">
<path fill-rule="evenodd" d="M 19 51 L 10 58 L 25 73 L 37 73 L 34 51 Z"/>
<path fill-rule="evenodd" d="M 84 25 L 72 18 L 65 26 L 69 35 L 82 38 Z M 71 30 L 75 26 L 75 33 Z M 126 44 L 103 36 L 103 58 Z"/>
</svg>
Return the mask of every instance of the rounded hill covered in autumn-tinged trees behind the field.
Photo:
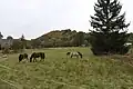
<svg viewBox="0 0 133 89">
<path fill-rule="evenodd" d="M 75 30 L 54 30 L 31 40 L 32 47 L 79 47 L 88 46 L 89 33 Z"/>
</svg>

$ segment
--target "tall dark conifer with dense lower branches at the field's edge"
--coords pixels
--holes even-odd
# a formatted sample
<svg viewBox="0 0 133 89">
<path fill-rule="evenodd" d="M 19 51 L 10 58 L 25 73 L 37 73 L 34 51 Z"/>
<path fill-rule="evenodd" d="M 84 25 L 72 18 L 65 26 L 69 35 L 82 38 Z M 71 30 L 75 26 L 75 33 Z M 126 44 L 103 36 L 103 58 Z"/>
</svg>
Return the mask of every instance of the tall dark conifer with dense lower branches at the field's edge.
<svg viewBox="0 0 133 89">
<path fill-rule="evenodd" d="M 91 16 L 91 47 L 94 55 L 126 53 L 129 47 L 124 44 L 129 34 L 125 23 L 125 12 L 120 14 L 122 4 L 117 0 L 98 0 L 94 16 Z"/>
</svg>

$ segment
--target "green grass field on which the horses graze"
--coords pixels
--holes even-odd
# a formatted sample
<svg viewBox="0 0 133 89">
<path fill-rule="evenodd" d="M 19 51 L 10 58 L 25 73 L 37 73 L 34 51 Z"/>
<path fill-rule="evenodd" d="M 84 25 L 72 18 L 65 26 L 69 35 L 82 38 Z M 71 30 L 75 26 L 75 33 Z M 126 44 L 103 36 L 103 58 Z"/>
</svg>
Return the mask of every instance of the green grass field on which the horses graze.
<svg viewBox="0 0 133 89">
<path fill-rule="evenodd" d="M 81 51 L 83 59 L 66 58 Z M 44 61 L 18 62 L 18 55 L 0 59 L 0 89 L 133 89 L 133 67 L 94 57 L 89 48 L 27 50 L 44 51 Z"/>
</svg>

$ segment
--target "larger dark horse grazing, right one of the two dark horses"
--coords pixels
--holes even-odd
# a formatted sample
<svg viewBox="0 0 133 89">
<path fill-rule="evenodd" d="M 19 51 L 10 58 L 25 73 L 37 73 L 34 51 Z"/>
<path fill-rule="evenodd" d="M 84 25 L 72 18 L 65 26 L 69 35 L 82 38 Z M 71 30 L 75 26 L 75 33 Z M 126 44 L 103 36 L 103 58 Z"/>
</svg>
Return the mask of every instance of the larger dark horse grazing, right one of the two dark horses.
<svg viewBox="0 0 133 89">
<path fill-rule="evenodd" d="M 41 60 L 45 58 L 45 55 L 44 52 L 33 52 L 30 57 L 30 62 L 32 62 L 32 59 L 33 59 L 33 62 L 37 61 L 37 58 L 41 58 Z"/>
</svg>

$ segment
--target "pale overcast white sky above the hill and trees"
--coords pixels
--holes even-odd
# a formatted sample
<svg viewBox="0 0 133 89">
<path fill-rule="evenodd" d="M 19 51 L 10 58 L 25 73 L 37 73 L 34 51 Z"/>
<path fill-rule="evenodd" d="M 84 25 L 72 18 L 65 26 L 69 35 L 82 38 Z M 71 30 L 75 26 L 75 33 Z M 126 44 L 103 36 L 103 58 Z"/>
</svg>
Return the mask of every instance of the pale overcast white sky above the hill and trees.
<svg viewBox="0 0 133 89">
<path fill-rule="evenodd" d="M 133 0 L 119 0 L 126 12 L 129 31 L 133 32 Z M 12 36 L 34 39 L 52 30 L 72 29 L 88 32 L 90 16 L 96 0 L 0 0 L 0 31 L 4 38 Z"/>
</svg>

